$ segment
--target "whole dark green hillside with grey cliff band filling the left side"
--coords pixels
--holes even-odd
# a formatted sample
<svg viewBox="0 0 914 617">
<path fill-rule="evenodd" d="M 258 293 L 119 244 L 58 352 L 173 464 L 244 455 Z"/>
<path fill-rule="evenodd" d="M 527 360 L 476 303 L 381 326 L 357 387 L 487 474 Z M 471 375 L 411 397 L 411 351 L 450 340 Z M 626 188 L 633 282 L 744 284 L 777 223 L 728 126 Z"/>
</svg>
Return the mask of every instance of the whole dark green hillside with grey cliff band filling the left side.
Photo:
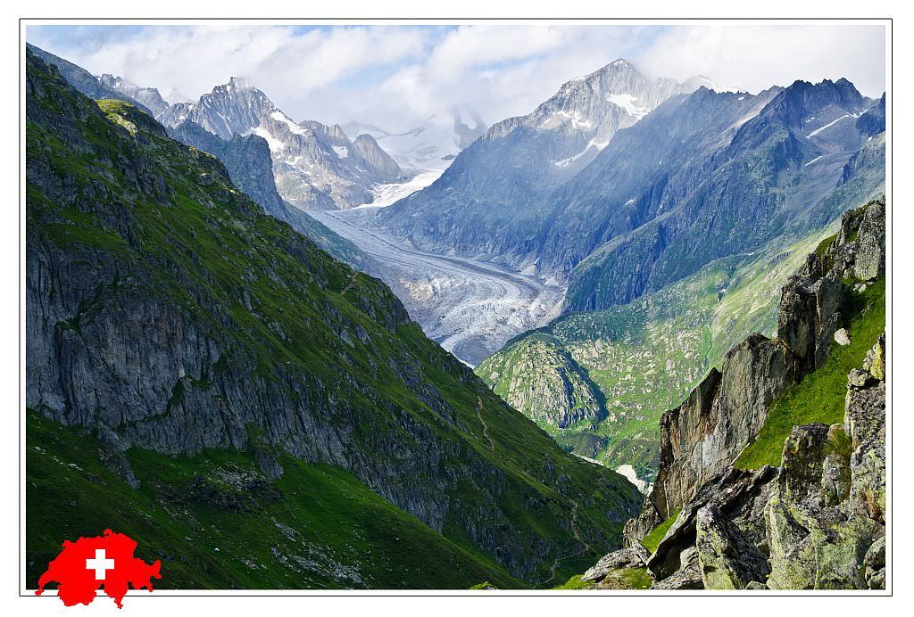
<svg viewBox="0 0 914 617">
<path fill-rule="evenodd" d="M 30 53 L 26 283 L 30 577 L 112 527 L 164 586 L 546 586 L 640 506 L 216 158 Z"/>
</svg>

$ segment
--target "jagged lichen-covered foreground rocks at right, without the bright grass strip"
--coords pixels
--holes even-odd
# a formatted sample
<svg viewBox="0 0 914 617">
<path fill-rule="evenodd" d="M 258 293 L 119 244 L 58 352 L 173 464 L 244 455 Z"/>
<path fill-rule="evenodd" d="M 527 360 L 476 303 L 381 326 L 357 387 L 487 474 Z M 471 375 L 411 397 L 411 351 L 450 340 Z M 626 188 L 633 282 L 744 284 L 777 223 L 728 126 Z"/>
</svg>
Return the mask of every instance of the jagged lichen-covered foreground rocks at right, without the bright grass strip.
<svg viewBox="0 0 914 617">
<path fill-rule="evenodd" d="M 776 364 L 792 368 L 774 371 L 784 375 L 784 381 L 776 380 L 770 392 L 782 391 L 821 364 L 823 334 L 834 334 L 827 316 L 843 309 L 838 281 L 854 276 L 857 256 L 873 265 L 865 272 L 878 274 L 884 235 L 884 203 L 846 213 L 834 241 L 811 254 L 783 289 L 779 334 L 790 342 L 750 337 L 731 351 L 731 363 L 720 373 L 712 371 L 686 403 L 664 414 L 657 483 L 643 515 L 625 529 L 625 543 L 633 546 L 645 529 L 682 508 L 647 561 L 658 586 L 667 578 L 691 575 L 684 559 L 694 549 L 707 589 L 885 585 L 884 548 L 879 543 L 885 535 L 886 507 L 885 335 L 867 353 L 863 368 L 848 375 L 844 424 L 795 426 L 783 445 L 779 469 L 766 465 L 741 471 L 732 466 L 733 459 L 727 460 L 739 454 L 740 443 L 755 439 L 761 427 L 755 421 L 763 422 L 771 398 L 759 402 L 748 417 L 744 414 L 752 409 L 751 401 L 727 409 L 729 420 L 744 424 L 747 433 L 717 429 L 724 424 L 720 413 L 727 407 L 722 404 L 727 399 L 724 383 L 739 384 L 730 392 L 760 392 L 759 378 L 764 383 L 771 376 L 776 356 L 744 354 L 738 365 L 733 361 L 740 347 L 779 345 L 784 350 Z M 808 296 L 801 298 L 803 293 Z M 737 438 L 728 447 L 708 447 L 708 435 L 714 434 L 709 427 Z M 711 477 L 702 476 L 715 469 Z"/>
</svg>

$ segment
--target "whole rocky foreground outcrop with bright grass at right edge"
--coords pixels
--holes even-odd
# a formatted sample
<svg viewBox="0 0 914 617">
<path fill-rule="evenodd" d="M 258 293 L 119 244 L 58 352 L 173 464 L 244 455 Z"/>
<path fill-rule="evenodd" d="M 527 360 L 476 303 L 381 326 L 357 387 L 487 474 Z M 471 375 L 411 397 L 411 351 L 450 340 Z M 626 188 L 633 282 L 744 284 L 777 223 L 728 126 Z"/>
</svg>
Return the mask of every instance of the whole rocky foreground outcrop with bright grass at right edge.
<svg viewBox="0 0 914 617">
<path fill-rule="evenodd" d="M 845 214 L 784 286 L 778 337 L 749 337 L 664 413 L 623 567 L 657 589 L 885 587 L 885 218 Z"/>
</svg>

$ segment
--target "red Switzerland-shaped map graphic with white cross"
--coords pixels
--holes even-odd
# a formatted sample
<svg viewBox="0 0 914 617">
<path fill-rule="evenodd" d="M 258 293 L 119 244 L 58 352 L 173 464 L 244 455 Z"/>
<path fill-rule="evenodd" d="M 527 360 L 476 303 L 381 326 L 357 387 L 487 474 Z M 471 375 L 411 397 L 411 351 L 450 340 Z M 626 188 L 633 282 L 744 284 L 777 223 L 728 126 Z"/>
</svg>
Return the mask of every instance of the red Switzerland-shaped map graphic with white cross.
<svg viewBox="0 0 914 617">
<path fill-rule="evenodd" d="M 48 564 L 38 579 L 36 595 L 45 591 L 48 582 L 58 583 L 58 597 L 67 606 L 89 604 L 95 591 L 104 586 L 105 593 L 123 608 L 122 600 L 130 586 L 153 591 L 152 579 L 161 579 L 161 562 L 148 564 L 133 557 L 136 542 L 122 533 L 105 529 L 103 536 L 66 540 L 63 550 Z"/>
</svg>

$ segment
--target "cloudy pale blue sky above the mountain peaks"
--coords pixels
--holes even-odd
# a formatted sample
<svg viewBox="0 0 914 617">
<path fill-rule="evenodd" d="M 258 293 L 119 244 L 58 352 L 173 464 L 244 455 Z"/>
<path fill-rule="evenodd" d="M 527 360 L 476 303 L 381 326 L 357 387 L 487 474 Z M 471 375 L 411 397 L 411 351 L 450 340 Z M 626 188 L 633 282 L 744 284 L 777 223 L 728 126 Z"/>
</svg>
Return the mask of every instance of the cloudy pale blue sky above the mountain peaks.
<svg viewBox="0 0 914 617">
<path fill-rule="evenodd" d="M 389 131 L 455 105 L 489 124 L 524 114 L 615 58 L 751 92 L 845 77 L 876 97 L 886 84 L 883 26 L 29 26 L 27 40 L 163 96 L 243 76 L 295 120 Z"/>
</svg>

